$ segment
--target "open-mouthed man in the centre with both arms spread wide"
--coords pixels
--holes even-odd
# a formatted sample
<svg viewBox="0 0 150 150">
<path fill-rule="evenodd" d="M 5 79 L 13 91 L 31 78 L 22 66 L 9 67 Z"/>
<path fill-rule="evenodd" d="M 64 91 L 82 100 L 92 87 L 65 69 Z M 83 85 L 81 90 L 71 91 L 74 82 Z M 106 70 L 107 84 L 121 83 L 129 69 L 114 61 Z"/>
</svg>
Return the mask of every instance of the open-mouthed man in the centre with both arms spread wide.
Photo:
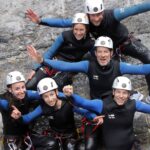
<svg viewBox="0 0 150 150">
<path fill-rule="evenodd" d="M 88 75 L 91 98 L 104 98 L 109 96 L 115 77 L 123 74 L 149 74 L 150 64 L 131 65 L 113 60 L 113 41 L 111 38 L 101 36 L 95 41 L 96 59 L 75 63 L 49 60 L 42 58 L 36 49 L 28 48 L 31 58 L 45 66 L 60 71 L 83 72 Z M 40 58 L 40 59 L 39 59 Z M 107 84 L 106 84 L 107 83 Z"/>
</svg>

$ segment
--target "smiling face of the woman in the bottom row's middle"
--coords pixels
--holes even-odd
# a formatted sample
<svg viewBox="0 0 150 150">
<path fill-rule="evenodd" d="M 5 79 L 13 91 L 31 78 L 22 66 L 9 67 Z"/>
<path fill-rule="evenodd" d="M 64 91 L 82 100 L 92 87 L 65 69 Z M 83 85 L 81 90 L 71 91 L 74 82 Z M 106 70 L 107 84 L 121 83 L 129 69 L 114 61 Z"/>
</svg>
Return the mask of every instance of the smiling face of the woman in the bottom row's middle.
<svg viewBox="0 0 150 150">
<path fill-rule="evenodd" d="M 55 106 L 56 102 L 58 100 L 57 91 L 56 90 L 48 91 L 48 92 L 42 94 L 42 98 L 47 105 L 49 105 L 51 107 Z"/>
</svg>

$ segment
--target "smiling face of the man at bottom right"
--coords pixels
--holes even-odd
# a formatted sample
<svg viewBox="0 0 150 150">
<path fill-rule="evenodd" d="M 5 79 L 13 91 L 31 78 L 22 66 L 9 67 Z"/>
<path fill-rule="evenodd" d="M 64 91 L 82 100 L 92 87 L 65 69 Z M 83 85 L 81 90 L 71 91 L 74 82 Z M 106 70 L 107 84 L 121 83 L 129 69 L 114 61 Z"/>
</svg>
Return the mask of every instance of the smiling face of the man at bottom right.
<svg viewBox="0 0 150 150">
<path fill-rule="evenodd" d="M 118 105 L 124 105 L 130 97 L 130 92 L 124 89 L 114 89 L 113 90 L 114 101 Z"/>
</svg>

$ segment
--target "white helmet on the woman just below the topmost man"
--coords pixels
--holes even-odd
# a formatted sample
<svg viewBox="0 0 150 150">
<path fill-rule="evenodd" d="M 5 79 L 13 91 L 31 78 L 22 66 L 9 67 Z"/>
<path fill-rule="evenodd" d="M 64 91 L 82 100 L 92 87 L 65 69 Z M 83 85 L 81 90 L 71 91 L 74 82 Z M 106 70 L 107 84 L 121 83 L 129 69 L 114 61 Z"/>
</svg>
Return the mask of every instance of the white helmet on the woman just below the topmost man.
<svg viewBox="0 0 150 150">
<path fill-rule="evenodd" d="M 81 24 L 89 24 L 89 19 L 87 14 L 85 13 L 76 13 L 73 16 L 72 23 L 81 23 Z"/>
</svg>

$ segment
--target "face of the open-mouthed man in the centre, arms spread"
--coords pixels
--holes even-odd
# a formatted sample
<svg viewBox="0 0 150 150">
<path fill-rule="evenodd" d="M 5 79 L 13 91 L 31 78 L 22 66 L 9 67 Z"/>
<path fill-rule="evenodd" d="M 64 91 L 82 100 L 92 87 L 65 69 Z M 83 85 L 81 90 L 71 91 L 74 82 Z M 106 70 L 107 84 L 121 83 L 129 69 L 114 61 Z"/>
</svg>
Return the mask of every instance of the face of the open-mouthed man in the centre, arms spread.
<svg viewBox="0 0 150 150">
<path fill-rule="evenodd" d="M 95 50 L 96 59 L 101 66 L 106 66 L 110 62 L 112 55 L 113 51 L 106 47 L 97 47 Z"/>
</svg>

